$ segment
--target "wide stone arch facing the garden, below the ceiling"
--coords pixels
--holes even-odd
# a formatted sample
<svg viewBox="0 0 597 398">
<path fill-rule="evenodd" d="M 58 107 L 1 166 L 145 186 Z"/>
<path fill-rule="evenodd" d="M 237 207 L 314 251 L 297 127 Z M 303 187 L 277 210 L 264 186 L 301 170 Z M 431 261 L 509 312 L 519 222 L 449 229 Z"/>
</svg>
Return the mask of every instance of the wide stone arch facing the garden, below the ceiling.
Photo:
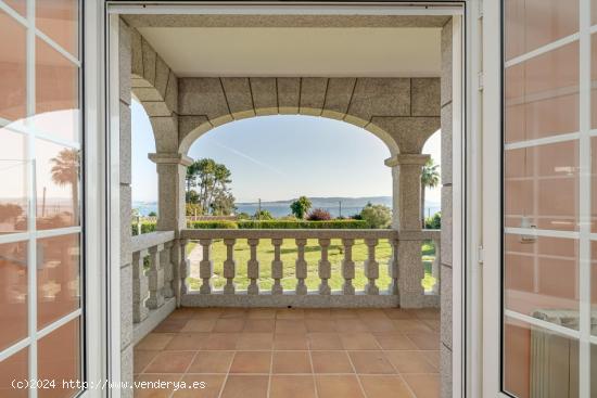
<svg viewBox="0 0 597 398">
<path fill-rule="evenodd" d="M 437 78 L 199 77 L 179 79 L 178 152 L 246 117 L 308 115 L 361 127 L 398 153 L 420 153 L 440 126 Z"/>
</svg>

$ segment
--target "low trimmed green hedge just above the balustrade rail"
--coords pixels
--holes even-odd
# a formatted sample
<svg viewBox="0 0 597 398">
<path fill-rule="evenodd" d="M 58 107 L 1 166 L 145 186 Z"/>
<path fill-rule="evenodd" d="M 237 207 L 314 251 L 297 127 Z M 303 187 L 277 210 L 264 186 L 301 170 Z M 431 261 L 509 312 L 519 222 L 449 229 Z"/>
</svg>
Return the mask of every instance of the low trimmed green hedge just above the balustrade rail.
<svg viewBox="0 0 597 398">
<path fill-rule="evenodd" d="M 329 220 L 329 221 L 293 221 L 293 220 L 238 220 L 238 221 L 190 221 L 189 228 L 192 229 L 243 229 L 243 230 L 256 230 L 256 229 L 333 229 L 333 230 L 347 230 L 347 229 L 369 229 L 369 224 L 364 220 Z M 132 234 L 138 234 L 137 223 L 131 224 Z M 142 222 L 141 233 L 148 233 L 155 231 L 155 223 Z"/>
</svg>

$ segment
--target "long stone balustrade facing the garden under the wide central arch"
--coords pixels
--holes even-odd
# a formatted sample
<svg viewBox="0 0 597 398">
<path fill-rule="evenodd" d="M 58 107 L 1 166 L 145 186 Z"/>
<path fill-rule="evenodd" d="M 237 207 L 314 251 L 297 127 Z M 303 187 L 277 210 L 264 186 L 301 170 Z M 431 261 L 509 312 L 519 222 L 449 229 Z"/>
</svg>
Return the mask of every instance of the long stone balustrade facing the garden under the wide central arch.
<svg viewBox="0 0 597 398">
<path fill-rule="evenodd" d="M 237 269 L 240 266 L 234 258 L 234 246 L 239 240 L 246 240 L 249 245 L 249 259 L 246 261 L 246 290 L 239 290 L 234 284 Z M 318 288 L 309 291 L 306 279 L 308 264 L 305 259 L 307 240 L 317 242 L 319 260 L 317 264 Z M 341 277 L 342 288 L 333 291 L 330 286 L 332 278 L 332 265 L 329 260 L 331 240 L 341 242 L 342 261 Z M 363 272 L 367 282 L 365 288 L 357 291 L 354 286 L 356 264 L 353 258 L 355 241 L 363 241 L 367 246 L 367 258 L 363 264 Z M 381 240 L 390 242 L 392 256 L 388 261 L 390 284 L 381 286 L 380 261 L 376 255 L 376 248 Z M 419 301 L 421 307 L 439 306 L 440 285 L 440 231 L 422 230 L 398 232 L 395 230 L 238 230 L 238 229 L 187 229 L 180 232 L 180 247 L 185 247 L 189 241 L 200 245 L 201 261 L 199 262 L 199 290 L 190 290 L 188 286 L 189 261 L 181 257 L 180 285 L 183 294 L 183 306 L 293 306 L 293 307 L 391 307 L 399 305 L 399 279 L 417 279 L 412 283 L 420 286 Z M 212 246 L 214 242 L 221 241 L 225 245 L 226 258 L 223 261 L 221 277 L 226 280 L 221 288 L 213 286 L 214 258 Z M 272 246 L 274 258 L 270 264 L 263 264 L 257 256 L 258 246 L 265 243 Z M 421 280 L 424 275 L 422 259 L 419 256 L 420 272 L 401 277 L 401 242 L 417 243 L 419 247 L 425 241 L 433 241 L 435 245 L 435 259 L 432 265 L 432 275 L 435 278 L 434 290 L 424 292 Z M 284 242 L 292 242 L 295 249 L 293 264 L 283 264 L 281 247 Z M 181 249 L 181 254 L 183 249 Z M 244 265 L 242 265 L 244 266 Z M 284 268 L 292 267 L 294 271 L 293 288 L 284 290 L 281 283 Z M 270 278 L 271 287 L 264 290 L 259 286 L 259 278 Z M 151 295 L 150 295 L 151 296 Z M 409 300 L 412 303 L 414 300 Z M 153 305 L 153 301 L 150 301 Z"/>
</svg>

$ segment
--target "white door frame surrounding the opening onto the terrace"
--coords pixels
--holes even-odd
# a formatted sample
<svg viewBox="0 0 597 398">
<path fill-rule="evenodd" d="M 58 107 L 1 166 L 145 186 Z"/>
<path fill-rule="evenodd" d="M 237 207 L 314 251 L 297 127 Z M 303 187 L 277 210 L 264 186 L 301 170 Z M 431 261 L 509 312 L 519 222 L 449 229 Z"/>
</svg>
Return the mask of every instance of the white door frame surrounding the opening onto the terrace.
<svg viewBox="0 0 597 398">
<path fill-rule="evenodd" d="M 493 1 L 460 0 L 460 1 L 339 1 L 321 2 L 315 4 L 306 1 L 293 1 L 288 3 L 271 1 L 246 1 L 232 4 L 226 1 L 126 1 L 102 0 L 106 4 L 105 14 L 105 76 L 104 89 L 106 94 L 106 176 L 118 176 L 118 126 L 119 115 L 117 106 L 118 93 L 118 28 L 117 18 L 122 14 L 227 14 L 227 13 L 259 13 L 259 14 L 330 14 L 339 13 L 339 8 L 344 8 L 341 13 L 358 13 L 369 15 L 404 14 L 412 15 L 414 8 L 421 9 L 429 15 L 456 15 L 453 33 L 453 397 L 475 397 L 481 390 L 482 374 L 478 371 L 481 367 L 481 308 L 471 306 L 471 303 L 480 300 L 480 288 L 474 285 L 477 277 L 477 264 L 480 253 L 481 229 L 471 220 L 481 220 L 481 197 L 474 195 L 480 191 L 481 176 L 475 172 L 481 164 L 480 143 L 481 129 L 474 124 L 482 118 L 473 115 L 473 111 L 481 111 L 480 81 L 475 78 L 481 72 L 480 53 L 484 42 L 479 41 L 482 25 L 479 24 L 483 13 L 482 4 Z M 420 5 L 419 5 L 420 3 Z M 151 7 L 147 7 L 151 5 Z M 395 5 L 390 8 L 389 5 Z M 434 8 L 434 5 L 436 5 Z M 315 11 L 317 10 L 317 11 Z M 391 11 L 391 12 L 390 12 Z M 114 63 L 115 62 L 115 63 Z M 112 92 L 112 94 L 110 94 Z M 116 101 L 116 106 L 113 103 Z M 484 110 L 484 107 L 483 107 Z M 484 127 L 484 125 L 483 125 Z M 472 145 L 469 144 L 472 143 Z M 475 146 L 477 145 L 477 146 Z M 116 170 L 116 171 L 115 171 Z M 469 172 L 472 170 L 473 172 Z M 109 284 L 119 286 L 119 198 L 117 177 L 111 179 L 107 184 L 109 200 L 109 257 L 112 259 Z M 479 196 L 479 197 L 478 197 Z M 470 206 L 466 205 L 467 203 Z M 468 232 L 470 231 L 470 232 Z M 474 266 L 473 266 L 474 265 Z M 470 269 L 472 268 L 472 269 Z M 481 282 L 478 281 L 480 284 Z M 110 290 L 110 308 L 118 309 L 120 293 L 118 288 Z M 480 301 L 478 301 L 480 303 Z M 107 314 L 110 326 L 110 355 L 107 363 L 111 380 L 119 381 L 119 310 L 111 310 Z M 471 336 L 471 338 L 467 338 Z M 119 391 L 112 391 L 111 396 L 118 397 Z"/>
</svg>

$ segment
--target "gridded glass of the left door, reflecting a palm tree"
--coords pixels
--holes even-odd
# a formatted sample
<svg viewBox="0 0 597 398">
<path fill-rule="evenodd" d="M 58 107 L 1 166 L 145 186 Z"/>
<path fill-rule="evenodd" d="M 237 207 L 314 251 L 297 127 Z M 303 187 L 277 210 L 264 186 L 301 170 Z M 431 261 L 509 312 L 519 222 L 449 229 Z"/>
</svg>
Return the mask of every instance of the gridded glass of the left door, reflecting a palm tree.
<svg viewBox="0 0 597 398">
<path fill-rule="evenodd" d="M 0 0 L 0 397 L 73 397 L 84 325 L 80 4 Z M 13 388 L 53 380 L 56 388 Z"/>
</svg>

